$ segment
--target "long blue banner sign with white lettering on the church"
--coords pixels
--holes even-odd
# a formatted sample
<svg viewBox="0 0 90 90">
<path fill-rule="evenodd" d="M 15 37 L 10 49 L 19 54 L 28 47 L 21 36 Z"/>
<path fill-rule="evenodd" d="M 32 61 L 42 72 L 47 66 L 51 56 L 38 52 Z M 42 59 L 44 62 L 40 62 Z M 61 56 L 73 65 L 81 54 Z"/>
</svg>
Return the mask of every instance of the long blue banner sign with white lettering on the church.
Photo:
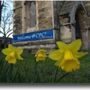
<svg viewBox="0 0 90 90">
<path fill-rule="evenodd" d="M 23 41 L 37 41 L 45 39 L 53 39 L 53 29 L 42 30 L 36 32 L 30 32 L 25 34 L 18 34 L 13 36 L 13 42 L 23 42 Z"/>
</svg>

